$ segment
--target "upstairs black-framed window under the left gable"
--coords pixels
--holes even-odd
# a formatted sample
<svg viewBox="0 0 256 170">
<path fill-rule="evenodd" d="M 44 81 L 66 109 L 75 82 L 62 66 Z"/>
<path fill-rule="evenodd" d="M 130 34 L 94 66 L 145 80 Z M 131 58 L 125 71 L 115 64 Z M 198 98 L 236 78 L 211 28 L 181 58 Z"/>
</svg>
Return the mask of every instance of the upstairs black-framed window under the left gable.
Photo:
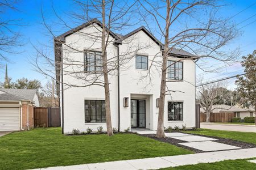
<svg viewBox="0 0 256 170">
<path fill-rule="evenodd" d="M 101 72 L 102 57 L 101 52 L 85 51 L 84 52 L 84 69 L 85 72 Z"/>
</svg>

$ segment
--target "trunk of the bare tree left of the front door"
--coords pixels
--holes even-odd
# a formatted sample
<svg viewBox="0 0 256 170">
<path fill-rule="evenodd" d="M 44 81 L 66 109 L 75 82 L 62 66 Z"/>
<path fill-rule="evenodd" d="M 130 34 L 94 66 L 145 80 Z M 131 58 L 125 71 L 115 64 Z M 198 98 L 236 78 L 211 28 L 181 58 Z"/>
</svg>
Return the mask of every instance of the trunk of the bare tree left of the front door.
<svg viewBox="0 0 256 170">
<path fill-rule="evenodd" d="M 109 136 L 113 135 L 111 112 L 110 112 L 110 95 L 109 95 L 109 76 L 108 66 L 106 58 L 106 27 L 105 27 L 105 0 L 102 1 L 102 38 L 101 38 L 101 50 L 102 50 L 102 65 L 104 74 L 104 88 L 105 88 L 105 112 L 106 112 L 106 126 Z"/>
</svg>

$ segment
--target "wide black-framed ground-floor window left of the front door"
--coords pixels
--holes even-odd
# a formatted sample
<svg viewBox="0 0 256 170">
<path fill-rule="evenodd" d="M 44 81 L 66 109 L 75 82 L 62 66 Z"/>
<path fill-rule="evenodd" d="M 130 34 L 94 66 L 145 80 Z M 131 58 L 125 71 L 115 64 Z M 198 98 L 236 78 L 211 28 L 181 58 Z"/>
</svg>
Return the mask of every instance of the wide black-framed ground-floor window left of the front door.
<svg viewBox="0 0 256 170">
<path fill-rule="evenodd" d="M 105 100 L 84 100 L 85 123 L 106 122 Z"/>
</svg>

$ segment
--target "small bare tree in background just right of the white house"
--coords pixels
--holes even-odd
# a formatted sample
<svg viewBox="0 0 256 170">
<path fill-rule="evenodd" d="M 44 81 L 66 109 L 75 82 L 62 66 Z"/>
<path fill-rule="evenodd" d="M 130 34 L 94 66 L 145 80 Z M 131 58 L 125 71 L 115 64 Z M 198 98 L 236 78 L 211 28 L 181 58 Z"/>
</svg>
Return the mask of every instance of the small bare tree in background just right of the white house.
<svg viewBox="0 0 256 170">
<path fill-rule="evenodd" d="M 199 83 L 202 84 L 202 79 L 199 80 Z M 206 122 L 210 122 L 210 113 L 214 109 L 226 109 L 222 107 L 213 107 L 220 103 L 221 100 L 228 100 L 230 96 L 226 96 L 226 83 L 217 82 L 210 83 L 207 85 L 202 85 L 197 89 L 197 103 L 200 104 L 200 107 L 205 111 L 207 116 Z M 230 106 L 231 108 L 232 106 Z"/>
</svg>

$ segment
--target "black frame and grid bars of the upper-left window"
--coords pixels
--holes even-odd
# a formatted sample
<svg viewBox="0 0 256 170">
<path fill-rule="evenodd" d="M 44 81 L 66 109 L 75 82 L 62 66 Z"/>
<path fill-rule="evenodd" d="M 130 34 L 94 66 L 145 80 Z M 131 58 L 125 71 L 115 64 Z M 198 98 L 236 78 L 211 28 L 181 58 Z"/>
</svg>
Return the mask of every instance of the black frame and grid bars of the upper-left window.
<svg viewBox="0 0 256 170">
<path fill-rule="evenodd" d="M 94 71 L 89 71 L 88 70 L 88 56 L 87 56 L 87 54 L 88 54 L 88 52 L 93 52 L 93 53 L 95 53 L 94 54 L 94 65 L 93 65 L 93 67 L 94 67 Z M 101 55 L 102 55 L 102 52 L 101 51 L 98 51 L 98 50 L 86 50 L 86 49 L 84 49 L 84 72 L 85 73 L 95 73 L 95 74 L 101 74 L 102 73 L 102 70 L 103 70 L 103 65 L 102 66 L 97 66 L 96 65 L 96 53 L 101 53 Z M 101 58 L 101 61 L 102 61 L 102 58 Z M 96 70 L 96 67 L 101 67 L 101 70 Z"/>
</svg>

